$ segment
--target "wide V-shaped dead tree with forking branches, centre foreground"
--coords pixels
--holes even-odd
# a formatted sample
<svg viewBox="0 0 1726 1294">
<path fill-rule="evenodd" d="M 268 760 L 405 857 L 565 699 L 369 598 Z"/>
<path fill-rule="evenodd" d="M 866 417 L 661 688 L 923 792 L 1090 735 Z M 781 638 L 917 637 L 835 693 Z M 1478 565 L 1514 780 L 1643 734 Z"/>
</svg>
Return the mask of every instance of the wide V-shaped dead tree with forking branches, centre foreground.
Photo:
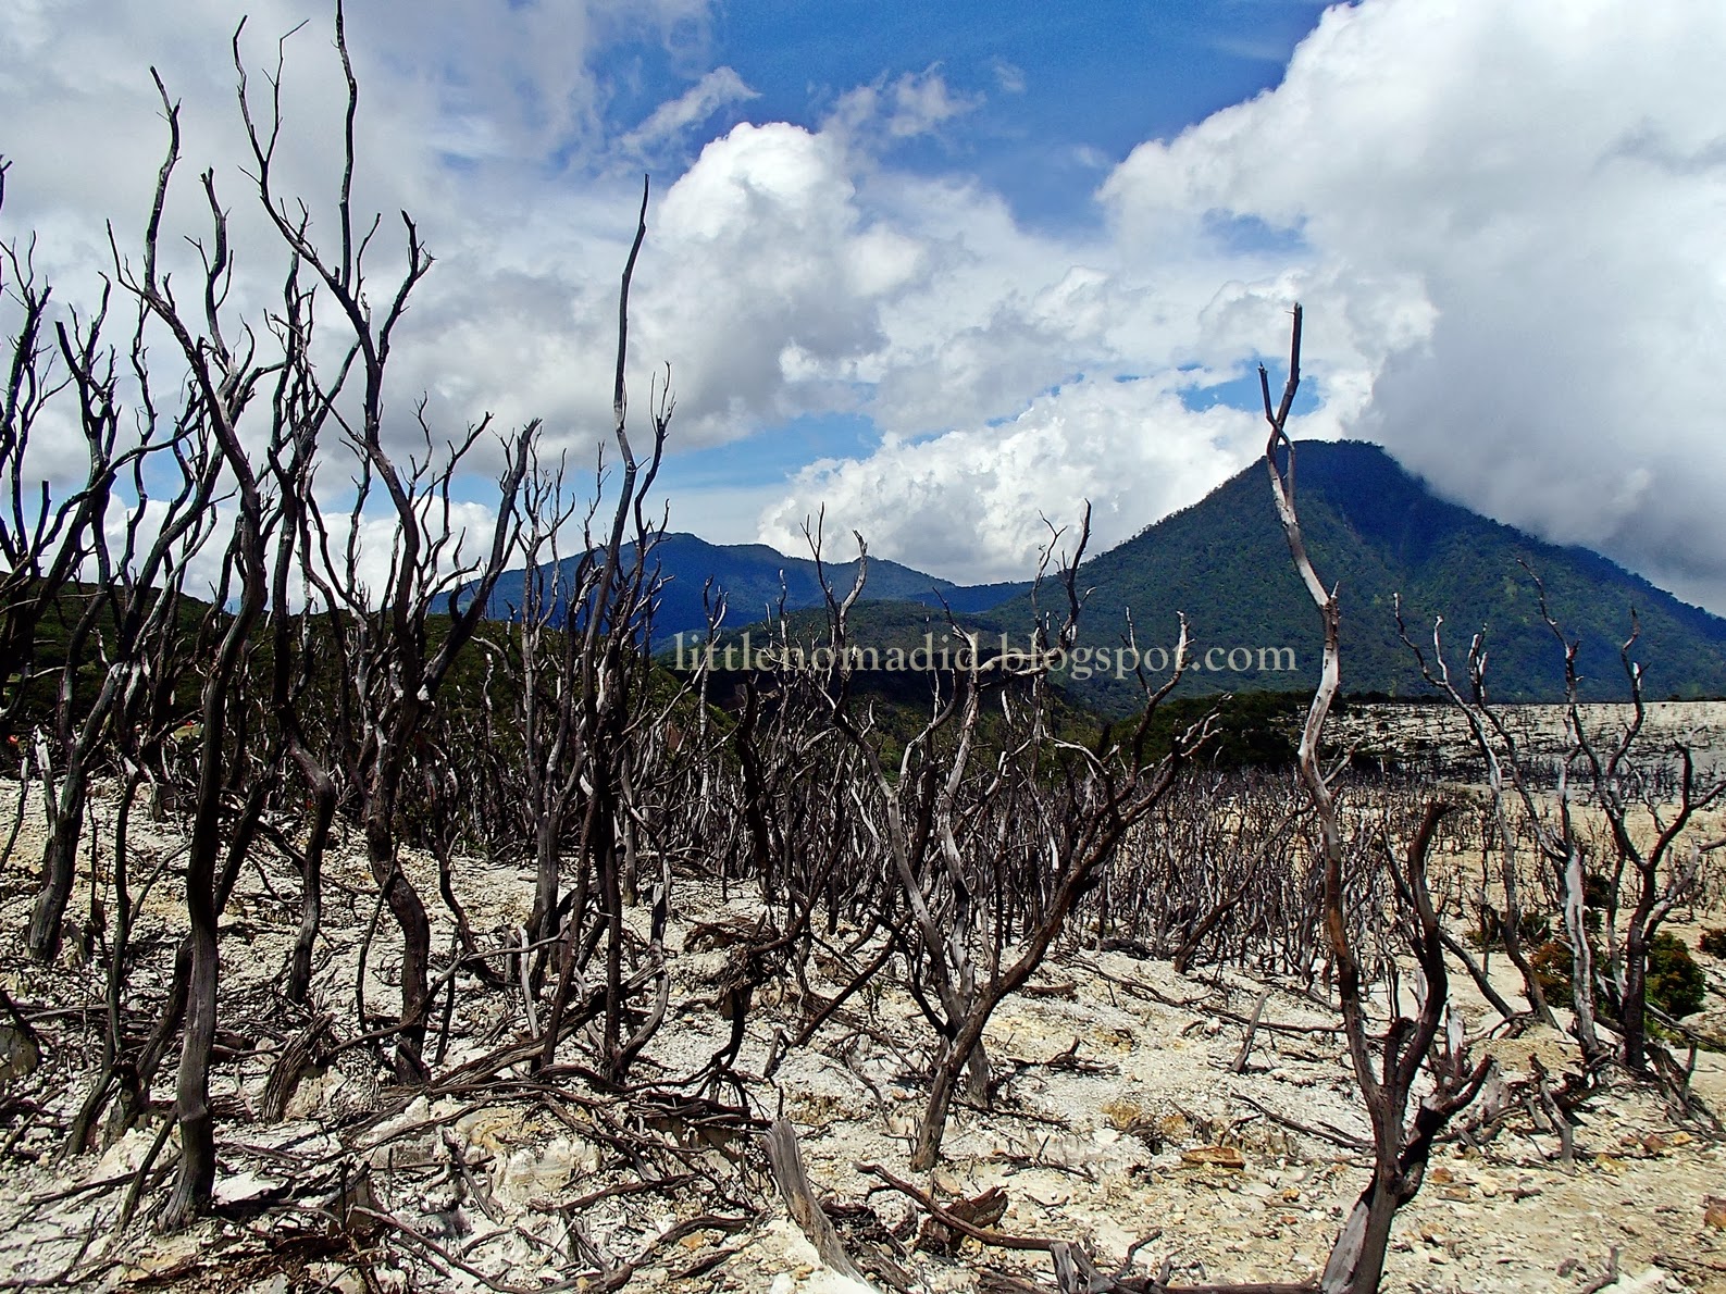
<svg viewBox="0 0 1726 1294">
<path fill-rule="evenodd" d="M 1060 535 L 1051 538 L 1046 562 Z M 1186 659 L 1186 625 L 1175 649 L 1177 669 L 1151 688 L 1141 673 L 1144 706 L 1120 732 L 1105 730 L 1094 745 L 1060 740 L 1048 723 L 1048 673 L 1077 644 L 1079 561 L 1089 540 L 1089 509 L 1070 557 L 1061 559 L 1058 588 L 1063 609 L 1051 623 L 1039 618 L 1029 652 L 989 654 L 977 635 L 951 626 L 958 664 L 951 683 L 937 676 L 929 721 L 906 742 L 896 775 L 865 719 L 853 713 L 853 656 L 847 616 L 866 578 L 868 550 L 858 537 L 858 576 L 841 599 L 827 590 L 828 649 L 834 663 L 827 694 L 834 726 L 856 749 L 870 788 L 882 804 L 880 842 L 899 882 L 917 952 L 911 992 L 937 1033 L 929 1099 L 911 1151 L 913 1168 L 932 1168 L 941 1154 L 948 1115 L 961 1075 L 979 1104 L 989 1101 L 989 1059 L 984 1030 L 994 1009 L 1018 992 L 1043 964 L 1068 925 L 1079 901 L 1101 880 L 1122 840 L 1174 785 L 1191 752 L 1208 737 L 1210 718 L 1179 733 L 1172 751 L 1150 754 L 1148 740 L 1158 704 L 1179 683 Z M 820 562 L 820 535 L 811 537 Z M 1041 580 L 1039 571 L 1039 580 Z M 827 585 L 825 575 L 822 580 Z M 986 688 L 1017 678 L 1029 685 L 1022 723 L 1005 740 L 991 766 L 973 773 L 979 719 Z M 1051 747 L 1055 754 L 1046 756 Z M 996 921 L 989 937 L 979 902 L 984 864 L 1001 851 L 1013 854 L 1030 883 L 1020 913 L 1018 940 Z M 980 944 L 980 947 L 977 947 Z M 980 956 L 979 956 L 980 952 Z M 932 999 L 923 990 L 932 992 Z"/>
</svg>

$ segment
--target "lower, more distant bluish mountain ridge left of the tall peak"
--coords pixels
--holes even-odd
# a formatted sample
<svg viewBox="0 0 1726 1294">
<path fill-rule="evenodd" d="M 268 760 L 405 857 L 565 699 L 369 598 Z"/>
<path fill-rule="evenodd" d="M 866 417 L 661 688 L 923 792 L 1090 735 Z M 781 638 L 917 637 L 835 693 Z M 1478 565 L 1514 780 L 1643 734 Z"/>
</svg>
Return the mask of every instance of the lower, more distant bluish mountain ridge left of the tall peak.
<svg viewBox="0 0 1726 1294">
<path fill-rule="evenodd" d="M 652 547 L 665 587 L 654 612 L 654 644 L 670 647 L 678 633 L 696 635 L 706 630 L 708 616 L 702 590 L 713 581 L 715 592 L 727 597 L 727 625 L 759 621 L 770 611 L 777 614 L 780 594 L 787 611 L 804 611 L 823 606 L 822 583 L 809 557 L 787 557 L 765 543 L 708 543 L 696 535 L 666 535 Z M 575 569 L 578 557 L 566 557 L 561 566 Z M 856 580 L 856 561 L 827 566 L 827 581 L 842 597 Z M 526 587 L 525 571 L 506 571 L 492 592 L 487 616 L 514 619 Z M 863 599 L 870 602 L 918 602 L 939 607 L 942 599 L 956 612 L 977 612 L 1025 592 L 1029 585 L 954 585 L 899 562 L 870 557 Z"/>
</svg>

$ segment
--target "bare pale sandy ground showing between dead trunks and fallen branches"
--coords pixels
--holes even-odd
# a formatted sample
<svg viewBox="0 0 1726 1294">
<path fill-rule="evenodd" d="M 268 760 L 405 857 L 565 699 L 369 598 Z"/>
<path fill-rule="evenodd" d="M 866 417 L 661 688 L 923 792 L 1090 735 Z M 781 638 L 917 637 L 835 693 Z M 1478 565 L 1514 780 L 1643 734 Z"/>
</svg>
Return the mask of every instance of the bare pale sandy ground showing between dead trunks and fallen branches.
<svg viewBox="0 0 1726 1294">
<path fill-rule="evenodd" d="M 16 787 L 3 783 L 0 792 L 0 821 L 9 823 Z M 148 859 L 167 856 L 176 844 L 173 830 L 138 821 L 135 845 L 142 861 L 135 871 L 148 871 Z M 0 873 L 3 983 L 21 1002 L 88 1008 L 86 1044 L 93 1046 L 100 1027 L 98 968 L 78 964 L 72 952 L 41 971 L 21 956 L 17 932 L 29 906 L 38 845 L 40 821 L 31 814 L 19 849 Z M 450 930 L 447 920 L 438 920 L 435 871 L 425 859 L 414 859 L 411 871 L 433 908 L 433 947 L 445 949 Z M 328 939 L 319 951 L 328 963 L 318 985 L 338 1018 L 352 1018 L 354 956 L 371 914 L 371 887 L 352 852 L 331 859 L 330 873 L 337 885 L 330 894 Z M 338 885 L 356 894 L 343 897 Z M 281 901 L 269 897 L 269 887 Z M 86 902 L 85 892 L 81 882 L 74 906 Z M 292 894 L 293 878 L 285 864 L 249 870 L 242 880 L 223 921 L 224 1025 L 242 1025 L 259 1001 L 276 994 L 295 923 Z M 518 866 L 464 863 L 457 894 L 485 939 L 525 916 L 532 880 Z M 682 940 L 696 921 L 727 911 L 754 916 L 758 908 L 744 894 L 734 890 L 727 902 L 713 883 L 678 882 L 670 933 L 671 1011 L 647 1049 L 651 1063 L 640 1066 L 640 1078 L 673 1082 L 697 1070 L 723 1042 L 728 1025 L 718 1020 L 711 996 L 725 954 L 685 954 Z M 180 928 L 178 901 L 178 880 L 167 873 L 150 890 L 140 935 Z M 630 921 L 646 930 L 647 913 L 632 911 Z M 368 971 L 368 1001 L 385 1009 L 395 1002 L 399 970 L 399 951 L 387 928 L 385 918 Z M 1695 942 L 1697 928 L 1681 933 Z M 162 949 L 140 975 L 164 971 L 171 942 L 164 940 Z M 1704 963 L 1710 983 L 1726 983 L 1719 963 L 1707 958 Z M 837 985 L 828 975 L 842 973 L 818 954 L 811 987 L 832 994 Z M 1276 1123 L 1248 1097 L 1307 1127 L 1364 1135 L 1367 1123 L 1339 1035 L 1332 1032 L 1334 1016 L 1319 1002 L 1276 987 L 1265 1020 L 1305 1032 L 1262 1030 L 1248 1073 L 1232 1075 L 1229 1061 L 1243 1028 L 1219 1009 L 1248 1014 L 1260 990 L 1253 980 L 1177 977 L 1167 963 L 1080 947 L 1061 952 L 1039 982 L 1072 990 L 1018 997 L 996 1013 L 987 1044 L 998 1073 L 1011 1077 L 994 1111 L 954 1111 L 944 1163 L 922 1175 L 920 1184 L 942 1199 L 1001 1185 L 1010 1199 L 999 1222 L 1003 1232 L 1084 1241 L 1105 1266 L 1155 1234 L 1139 1254 L 1139 1273 L 1155 1272 L 1163 1258 L 1172 1258 L 1179 1280 L 1315 1275 L 1362 1187 L 1364 1161 L 1320 1137 Z M 463 987 L 457 1040 L 445 1066 L 495 1046 L 488 1033 L 507 1039 L 523 1027 L 520 999 L 485 994 L 466 982 Z M 1471 1027 L 1491 1023 L 1465 977 L 1458 973 L 1453 987 Z M 801 1020 L 794 999 L 772 1001 L 772 992 L 765 997 L 770 1001 L 758 1002 L 739 1061 L 746 1073 L 759 1073 L 775 1028 L 794 1030 Z M 1717 1027 L 1726 1018 L 1726 999 L 1717 989 L 1709 1008 L 1714 1020 L 1704 1023 Z M 64 1018 L 54 1021 L 54 1030 L 76 1037 Z M 911 1177 L 906 1161 L 920 1113 L 917 1063 L 925 1030 L 903 994 L 872 989 L 853 999 L 815 1046 L 792 1054 L 775 1084 L 756 1082 L 749 1089 L 758 1113 L 772 1118 L 782 1109 L 796 1121 L 816 1190 L 846 1203 L 870 1203 L 887 1227 L 911 1222 L 911 1208 L 858 1165 L 880 1163 Z M 1574 1061 L 1569 1040 L 1550 1032 L 1493 1040 L 1486 1047 L 1507 1078 L 1526 1075 L 1531 1051 L 1553 1071 Z M 1077 1071 L 1061 1063 L 1068 1052 L 1080 1061 Z M 50 1066 L 55 1063 L 50 1056 Z M 268 1054 L 226 1066 L 217 1099 L 235 1111 L 254 1109 L 268 1066 Z M 59 1073 L 64 1087 L 55 1106 L 62 1113 L 76 1108 L 83 1061 L 67 1058 L 62 1070 L 50 1073 Z M 454 1097 L 435 1102 L 418 1097 L 381 1127 L 340 1128 L 330 1120 L 328 1099 L 342 1082 L 337 1070 L 312 1075 L 290 1106 L 288 1121 L 274 1127 L 231 1115 L 219 1130 L 224 1146 L 219 1197 L 255 1196 L 280 1184 L 285 1172 L 295 1172 L 283 1166 L 293 1163 L 292 1156 L 309 1163 L 347 1146 L 356 1163 L 371 1165 L 381 1206 L 425 1234 L 447 1234 L 445 1244 L 494 1277 L 533 1287 L 557 1277 L 547 1253 L 568 1241 L 557 1203 L 618 1180 L 601 1147 L 523 1101 L 499 1099 L 468 1109 Z M 1726 1109 L 1726 1056 L 1702 1054 L 1695 1085 L 1716 1109 Z M 159 1084 L 159 1094 L 169 1089 L 171 1075 Z M 437 1180 L 437 1165 L 449 1163 L 442 1132 L 388 1135 L 392 1128 L 438 1116 L 450 1120 L 450 1140 L 475 1166 L 494 1216 L 473 1199 L 454 1206 L 450 1184 Z M 48 1154 L 52 1144 L 45 1137 L 26 1135 L 17 1149 L 40 1159 L 14 1158 L 3 1170 L 0 1278 L 54 1277 L 88 1239 L 86 1261 L 116 1263 L 93 1282 L 107 1289 L 362 1289 L 357 1272 L 340 1259 L 312 1263 L 299 1284 L 280 1275 L 268 1247 L 280 1239 L 273 1228 L 281 1225 L 271 1218 L 281 1215 L 252 1223 L 212 1220 L 166 1237 L 142 1223 L 124 1234 L 114 1230 L 121 1190 L 76 1187 L 128 1173 L 152 1137 L 154 1127 L 135 1130 L 104 1154 L 60 1163 Z M 1707 1225 L 1704 1216 L 1710 1196 L 1726 1196 L 1726 1146 L 1674 1127 L 1655 1096 L 1617 1084 L 1586 1108 L 1576 1147 L 1578 1166 L 1567 1173 L 1550 1158 L 1555 1137 L 1536 1130 L 1528 1115 L 1512 1116 L 1484 1154 L 1441 1146 L 1426 1189 L 1398 1216 L 1386 1291 L 1581 1291 L 1600 1280 L 1614 1251 L 1622 1277 L 1609 1285 L 1612 1291 L 1726 1291 L 1726 1232 Z M 1239 1166 L 1229 1166 L 1236 1161 Z M 753 1199 L 766 1206 L 759 1223 L 730 1237 L 716 1232 L 685 1237 L 644 1266 L 630 1287 L 851 1294 L 854 1284 L 820 1268 L 813 1249 L 772 1201 L 770 1184 L 749 1185 Z M 704 1211 L 730 1208 L 687 1192 L 625 1196 L 589 1209 L 580 1222 L 599 1247 L 628 1258 L 677 1220 Z M 447 1232 L 435 1232 L 437 1227 Z M 704 1258 L 723 1261 L 697 1277 L 677 1278 L 675 1273 Z M 1046 1258 L 998 1249 L 984 1254 L 973 1241 L 951 1259 L 918 1251 L 896 1261 L 925 1291 L 980 1289 L 982 1263 L 1049 1285 Z M 388 1253 L 378 1259 L 375 1275 L 383 1289 L 483 1287 L 459 1272 L 428 1280 L 425 1266 Z"/>
</svg>

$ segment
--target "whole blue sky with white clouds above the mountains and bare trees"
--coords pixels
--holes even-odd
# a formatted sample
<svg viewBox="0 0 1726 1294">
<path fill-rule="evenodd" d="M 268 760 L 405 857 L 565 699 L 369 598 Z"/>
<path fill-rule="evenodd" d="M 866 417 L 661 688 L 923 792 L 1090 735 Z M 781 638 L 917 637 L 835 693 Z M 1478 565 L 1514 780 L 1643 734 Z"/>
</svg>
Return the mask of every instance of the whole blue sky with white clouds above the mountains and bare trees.
<svg viewBox="0 0 1726 1294">
<path fill-rule="evenodd" d="M 1379 442 L 1450 499 L 1726 612 L 1726 5 L 352 10 L 373 283 L 399 210 L 437 257 L 392 359 L 400 445 L 423 395 L 438 426 L 540 418 L 547 449 L 594 461 L 649 176 L 628 373 L 637 426 L 670 373 L 675 530 L 799 552 L 825 509 L 877 556 L 1029 578 L 1084 502 L 1101 550 L 1262 454 L 1251 374 L 1281 381 L 1300 300 L 1296 437 Z M 35 231 L 62 302 L 93 298 L 107 221 L 121 247 L 143 228 L 150 66 L 185 133 L 167 228 L 205 228 L 212 167 L 235 309 L 268 302 L 242 12 L 254 97 L 293 33 L 280 183 L 328 236 L 330 5 L 9 5 L 0 236 Z M 483 526 L 485 480 L 464 499 Z"/>
</svg>

